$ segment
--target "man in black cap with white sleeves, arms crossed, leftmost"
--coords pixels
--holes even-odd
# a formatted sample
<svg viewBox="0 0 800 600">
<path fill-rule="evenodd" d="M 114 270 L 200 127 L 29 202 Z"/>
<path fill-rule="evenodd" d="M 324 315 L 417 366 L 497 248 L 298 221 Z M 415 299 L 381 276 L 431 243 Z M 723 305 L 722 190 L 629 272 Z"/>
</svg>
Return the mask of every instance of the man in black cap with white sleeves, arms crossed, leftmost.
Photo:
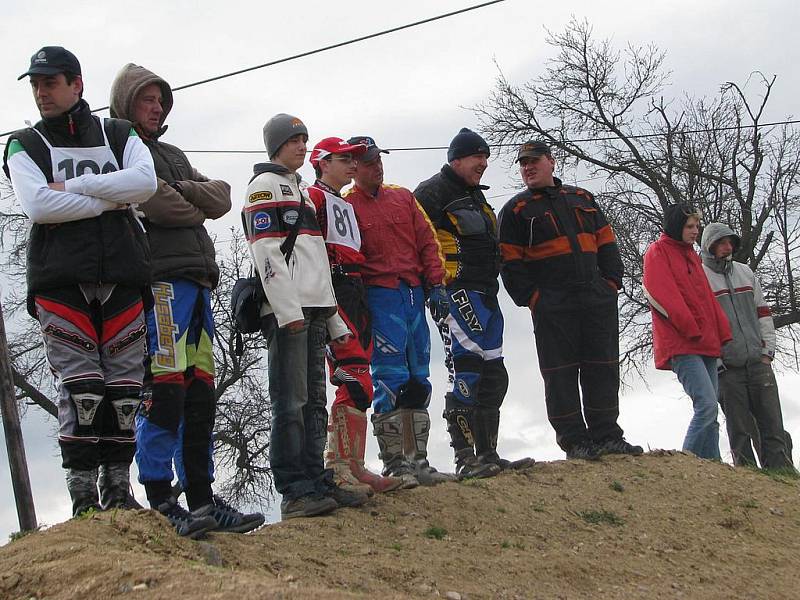
<svg viewBox="0 0 800 600">
<path fill-rule="evenodd" d="M 78 515 L 131 503 L 150 298 L 150 251 L 133 209 L 156 177 L 131 124 L 95 117 L 81 99 L 75 55 L 46 46 L 26 76 L 42 120 L 10 136 L 3 168 L 32 222 L 28 311 L 58 382 L 58 440 Z"/>
</svg>

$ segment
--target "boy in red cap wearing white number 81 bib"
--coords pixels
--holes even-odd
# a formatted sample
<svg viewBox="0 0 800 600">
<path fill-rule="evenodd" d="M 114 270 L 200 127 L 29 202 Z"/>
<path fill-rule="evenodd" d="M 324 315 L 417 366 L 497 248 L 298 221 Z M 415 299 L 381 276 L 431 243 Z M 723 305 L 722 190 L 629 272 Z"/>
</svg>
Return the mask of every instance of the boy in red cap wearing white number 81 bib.
<svg viewBox="0 0 800 600">
<path fill-rule="evenodd" d="M 336 397 L 328 419 L 325 466 L 333 469 L 340 487 L 372 494 L 396 489 L 402 481 L 381 477 L 364 466 L 366 411 L 373 398 L 369 373 L 372 320 L 361 279 L 361 232 L 353 205 L 340 192 L 355 175 L 355 158 L 366 150 L 363 144 L 348 144 L 337 137 L 320 141 L 311 151 L 317 180 L 308 188 L 308 195 L 325 238 L 339 315 L 353 332 L 347 343 L 328 345 L 330 381 L 336 386 Z"/>
</svg>

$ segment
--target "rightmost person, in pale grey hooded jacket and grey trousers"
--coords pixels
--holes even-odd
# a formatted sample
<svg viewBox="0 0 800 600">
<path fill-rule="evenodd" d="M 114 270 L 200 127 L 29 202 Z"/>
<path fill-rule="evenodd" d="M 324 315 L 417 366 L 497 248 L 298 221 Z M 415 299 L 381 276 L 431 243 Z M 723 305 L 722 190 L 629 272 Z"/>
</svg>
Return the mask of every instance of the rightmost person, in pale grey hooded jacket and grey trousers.
<svg viewBox="0 0 800 600">
<path fill-rule="evenodd" d="M 724 223 L 703 230 L 700 256 L 711 290 L 728 316 L 733 340 L 722 347 L 719 400 L 735 465 L 756 464 L 752 424 L 758 426 L 761 466 L 793 468 L 786 445 L 778 386 L 772 372 L 775 325 L 755 274 L 733 260 L 741 240 Z"/>
</svg>

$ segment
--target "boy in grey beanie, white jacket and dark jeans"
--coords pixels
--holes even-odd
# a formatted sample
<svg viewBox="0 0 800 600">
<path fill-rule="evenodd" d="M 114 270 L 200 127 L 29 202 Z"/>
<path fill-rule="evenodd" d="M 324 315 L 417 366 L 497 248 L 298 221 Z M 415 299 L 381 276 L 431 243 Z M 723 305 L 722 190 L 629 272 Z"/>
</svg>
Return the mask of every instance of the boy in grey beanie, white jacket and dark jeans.
<svg viewBox="0 0 800 600">
<path fill-rule="evenodd" d="M 331 268 L 314 203 L 297 170 L 306 158 L 308 129 L 280 113 L 264 125 L 270 161 L 253 167 L 242 209 L 245 236 L 264 289 L 262 332 L 267 338 L 272 402 L 269 462 L 283 496 L 281 517 L 312 517 L 360 506 L 366 494 L 333 481 L 323 460 L 325 343 L 343 344 L 350 330 L 337 312 Z"/>
</svg>

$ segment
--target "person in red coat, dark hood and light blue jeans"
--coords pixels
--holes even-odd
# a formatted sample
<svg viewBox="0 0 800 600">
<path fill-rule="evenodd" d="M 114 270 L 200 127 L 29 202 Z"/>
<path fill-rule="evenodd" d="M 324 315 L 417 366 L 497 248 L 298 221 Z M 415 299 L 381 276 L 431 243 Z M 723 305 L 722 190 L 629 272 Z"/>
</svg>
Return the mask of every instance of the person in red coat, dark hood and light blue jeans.
<svg viewBox="0 0 800 600">
<path fill-rule="evenodd" d="M 644 255 L 643 286 L 656 368 L 672 369 L 694 406 L 683 450 L 720 460 L 717 359 L 732 336 L 694 250 L 699 225 L 700 215 L 690 208 L 666 208 L 664 232 Z"/>
</svg>

